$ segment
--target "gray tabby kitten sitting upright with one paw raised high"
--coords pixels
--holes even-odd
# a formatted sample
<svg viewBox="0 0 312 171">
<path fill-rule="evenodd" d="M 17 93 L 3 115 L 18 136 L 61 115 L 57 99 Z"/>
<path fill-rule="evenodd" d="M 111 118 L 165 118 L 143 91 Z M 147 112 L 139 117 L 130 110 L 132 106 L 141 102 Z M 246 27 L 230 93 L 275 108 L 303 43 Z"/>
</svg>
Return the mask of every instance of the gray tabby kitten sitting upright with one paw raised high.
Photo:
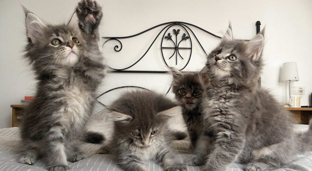
<svg viewBox="0 0 312 171">
<path fill-rule="evenodd" d="M 18 162 L 33 164 L 42 157 L 50 171 L 67 170 L 67 161 L 84 158 L 82 140 L 100 135 L 85 133 L 85 124 L 105 76 L 98 46 L 101 8 L 94 1 L 81 1 L 70 22 L 61 25 L 45 24 L 26 9 L 25 13 L 25 58 L 32 63 L 38 82 L 35 99 L 22 118 Z"/>
</svg>

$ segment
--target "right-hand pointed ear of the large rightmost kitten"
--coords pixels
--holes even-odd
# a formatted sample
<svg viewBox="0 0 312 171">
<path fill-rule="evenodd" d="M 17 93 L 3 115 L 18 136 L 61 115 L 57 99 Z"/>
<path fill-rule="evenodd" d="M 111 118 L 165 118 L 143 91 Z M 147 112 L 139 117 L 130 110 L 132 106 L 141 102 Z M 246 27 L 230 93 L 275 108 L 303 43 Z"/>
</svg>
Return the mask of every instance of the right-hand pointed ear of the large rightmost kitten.
<svg viewBox="0 0 312 171">
<path fill-rule="evenodd" d="M 264 30 L 258 33 L 254 38 L 246 43 L 246 53 L 251 61 L 256 61 L 261 57 L 261 52 L 264 45 Z"/>
</svg>

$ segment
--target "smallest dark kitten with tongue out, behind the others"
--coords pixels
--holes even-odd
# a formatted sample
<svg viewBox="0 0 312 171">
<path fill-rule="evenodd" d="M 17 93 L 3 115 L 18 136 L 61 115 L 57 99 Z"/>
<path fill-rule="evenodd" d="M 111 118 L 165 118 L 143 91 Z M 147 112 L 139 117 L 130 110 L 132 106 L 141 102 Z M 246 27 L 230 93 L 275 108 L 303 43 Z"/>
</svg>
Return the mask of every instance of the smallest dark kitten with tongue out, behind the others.
<svg viewBox="0 0 312 171">
<path fill-rule="evenodd" d="M 172 91 L 182 107 L 182 116 L 187 125 L 191 139 L 190 148 L 196 148 L 197 139 L 202 134 L 202 112 L 200 105 L 205 84 L 208 83 L 206 72 L 181 73 L 176 68 L 171 68 L 173 75 Z"/>
</svg>

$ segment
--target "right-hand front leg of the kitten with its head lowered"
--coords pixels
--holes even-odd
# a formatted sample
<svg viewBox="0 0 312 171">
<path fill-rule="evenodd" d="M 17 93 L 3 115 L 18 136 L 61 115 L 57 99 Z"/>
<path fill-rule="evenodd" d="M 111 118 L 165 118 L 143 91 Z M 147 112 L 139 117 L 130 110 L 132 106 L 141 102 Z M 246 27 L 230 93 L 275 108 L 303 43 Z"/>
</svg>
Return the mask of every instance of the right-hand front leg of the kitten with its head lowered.
<svg viewBox="0 0 312 171">
<path fill-rule="evenodd" d="M 170 148 L 162 150 L 157 155 L 157 162 L 163 163 L 166 171 L 188 171 L 188 167 L 179 162 L 177 154 L 173 153 Z"/>
</svg>

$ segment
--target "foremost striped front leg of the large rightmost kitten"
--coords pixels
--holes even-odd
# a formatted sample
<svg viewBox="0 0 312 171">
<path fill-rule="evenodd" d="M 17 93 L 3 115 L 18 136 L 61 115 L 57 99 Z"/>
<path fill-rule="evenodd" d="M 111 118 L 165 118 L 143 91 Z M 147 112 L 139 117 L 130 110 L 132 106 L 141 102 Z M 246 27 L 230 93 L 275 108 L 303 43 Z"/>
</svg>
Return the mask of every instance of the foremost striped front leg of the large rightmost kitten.
<svg viewBox="0 0 312 171">
<path fill-rule="evenodd" d="M 205 164 L 205 171 L 224 171 L 241 153 L 245 144 L 245 134 L 241 128 L 227 123 L 216 123 L 211 153 Z"/>
</svg>

